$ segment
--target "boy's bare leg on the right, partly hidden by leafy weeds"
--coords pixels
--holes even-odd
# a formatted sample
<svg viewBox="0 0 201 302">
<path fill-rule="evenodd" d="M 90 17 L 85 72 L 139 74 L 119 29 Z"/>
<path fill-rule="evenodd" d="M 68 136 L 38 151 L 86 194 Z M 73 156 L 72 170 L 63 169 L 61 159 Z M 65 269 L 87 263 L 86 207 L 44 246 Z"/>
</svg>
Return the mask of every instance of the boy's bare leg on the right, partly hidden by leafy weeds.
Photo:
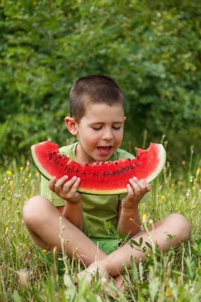
<svg viewBox="0 0 201 302">
<path fill-rule="evenodd" d="M 185 242 L 191 235 L 190 225 L 187 219 L 180 214 L 171 214 L 160 221 L 157 221 L 154 224 L 154 228 L 149 228 L 150 233 L 152 234 L 152 240 L 154 243 L 157 242 L 159 248 L 162 251 L 167 251 L 170 246 L 178 247 L 182 242 Z M 167 241 L 167 235 L 173 235 L 173 240 Z M 143 244 L 141 248 L 145 245 L 145 242 L 151 244 L 149 236 L 145 231 L 142 231 L 134 235 L 131 239 L 139 243 L 140 238 L 143 238 Z M 131 248 L 128 244 L 125 244 L 119 250 L 111 253 L 106 256 L 103 260 L 100 260 L 98 267 L 100 270 L 107 270 L 110 272 L 110 275 L 117 276 L 120 273 L 124 272 L 123 264 L 127 265 L 127 268 L 131 268 L 130 258 L 133 257 L 136 265 L 139 264 L 140 259 L 145 259 L 145 253 L 139 251 L 138 249 Z M 88 281 L 90 281 L 90 274 L 95 269 L 95 264 L 92 263 L 85 271 L 80 274 L 87 273 Z"/>
</svg>

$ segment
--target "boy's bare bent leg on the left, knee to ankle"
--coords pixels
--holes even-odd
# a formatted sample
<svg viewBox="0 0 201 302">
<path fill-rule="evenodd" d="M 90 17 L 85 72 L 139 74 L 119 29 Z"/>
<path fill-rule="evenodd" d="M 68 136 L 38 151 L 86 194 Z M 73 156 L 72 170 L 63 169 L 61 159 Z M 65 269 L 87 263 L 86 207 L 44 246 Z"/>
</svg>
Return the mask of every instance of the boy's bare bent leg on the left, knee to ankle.
<svg viewBox="0 0 201 302">
<path fill-rule="evenodd" d="M 61 253 L 59 217 L 62 217 L 62 225 L 65 226 L 63 238 L 68 240 L 65 250 L 69 258 L 72 259 L 75 256 L 75 249 L 78 248 L 77 258 L 80 258 L 87 267 L 95 260 L 102 260 L 107 256 L 84 233 L 62 216 L 47 198 L 35 196 L 23 208 L 24 222 L 34 243 L 49 251 L 57 247 L 57 251 Z"/>
</svg>

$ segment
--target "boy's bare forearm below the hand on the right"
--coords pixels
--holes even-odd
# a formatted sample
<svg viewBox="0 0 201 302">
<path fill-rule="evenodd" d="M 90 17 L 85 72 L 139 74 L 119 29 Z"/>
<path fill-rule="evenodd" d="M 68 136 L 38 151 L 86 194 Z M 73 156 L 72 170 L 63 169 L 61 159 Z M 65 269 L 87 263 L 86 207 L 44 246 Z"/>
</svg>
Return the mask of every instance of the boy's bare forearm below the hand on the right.
<svg viewBox="0 0 201 302">
<path fill-rule="evenodd" d="M 132 218 L 132 220 L 130 219 Z M 122 201 L 119 201 L 117 225 L 119 233 L 125 235 L 135 234 L 140 231 L 141 221 L 139 217 L 138 205 L 132 210 L 122 208 Z"/>
</svg>

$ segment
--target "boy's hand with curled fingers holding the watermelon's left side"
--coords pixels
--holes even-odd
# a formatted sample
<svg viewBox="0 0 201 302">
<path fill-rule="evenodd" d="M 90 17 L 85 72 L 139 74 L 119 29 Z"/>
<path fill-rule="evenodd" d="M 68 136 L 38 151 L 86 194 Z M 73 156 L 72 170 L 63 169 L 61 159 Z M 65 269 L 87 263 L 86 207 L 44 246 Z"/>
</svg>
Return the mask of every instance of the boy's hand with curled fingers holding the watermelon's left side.
<svg viewBox="0 0 201 302">
<path fill-rule="evenodd" d="M 73 176 L 69 181 L 65 183 L 67 179 L 68 176 L 65 175 L 56 181 L 56 177 L 53 176 L 49 182 L 48 187 L 57 196 L 69 203 L 76 203 L 78 201 L 81 201 L 81 194 L 77 192 L 80 178 Z"/>
</svg>

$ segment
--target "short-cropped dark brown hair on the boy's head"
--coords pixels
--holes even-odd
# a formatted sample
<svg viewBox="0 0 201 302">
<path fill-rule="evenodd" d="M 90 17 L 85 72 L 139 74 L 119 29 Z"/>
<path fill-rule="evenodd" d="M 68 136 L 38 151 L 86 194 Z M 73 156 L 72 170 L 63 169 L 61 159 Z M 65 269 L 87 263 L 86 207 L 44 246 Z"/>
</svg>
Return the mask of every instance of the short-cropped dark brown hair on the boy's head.
<svg viewBox="0 0 201 302">
<path fill-rule="evenodd" d="M 70 90 L 70 116 L 76 122 L 80 122 L 91 105 L 103 103 L 125 108 L 124 94 L 112 78 L 103 74 L 88 74 L 75 81 Z"/>
</svg>

